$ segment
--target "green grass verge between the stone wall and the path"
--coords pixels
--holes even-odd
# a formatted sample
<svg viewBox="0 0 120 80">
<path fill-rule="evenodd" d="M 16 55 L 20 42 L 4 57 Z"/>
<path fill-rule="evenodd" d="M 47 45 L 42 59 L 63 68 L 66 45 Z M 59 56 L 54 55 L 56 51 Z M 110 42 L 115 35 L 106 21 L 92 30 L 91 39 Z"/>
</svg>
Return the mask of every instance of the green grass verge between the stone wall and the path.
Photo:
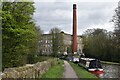
<svg viewBox="0 0 120 80">
<path fill-rule="evenodd" d="M 52 66 L 46 73 L 40 78 L 62 78 L 64 66 L 63 60 L 59 60 L 57 65 Z"/>
</svg>

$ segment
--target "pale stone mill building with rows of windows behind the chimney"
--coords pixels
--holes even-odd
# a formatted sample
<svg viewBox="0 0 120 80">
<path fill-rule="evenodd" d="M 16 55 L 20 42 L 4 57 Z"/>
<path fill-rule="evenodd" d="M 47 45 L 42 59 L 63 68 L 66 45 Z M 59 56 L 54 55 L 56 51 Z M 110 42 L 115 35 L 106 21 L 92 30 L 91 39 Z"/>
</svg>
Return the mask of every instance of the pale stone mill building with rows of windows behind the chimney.
<svg viewBox="0 0 120 80">
<path fill-rule="evenodd" d="M 64 52 L 69 52 L 68 48 L 71 49 L 72 44 L 72 35 L 61 32 L 64 42 Z M 77 36 L 78 40 L 78 52 L 83 49 L 82 37 Z M 42 55 L 50 55 L 52 53 L 52 35 L 43 34 L 42 39 L 39 41 L 39 53 Z"/>
</svg>

